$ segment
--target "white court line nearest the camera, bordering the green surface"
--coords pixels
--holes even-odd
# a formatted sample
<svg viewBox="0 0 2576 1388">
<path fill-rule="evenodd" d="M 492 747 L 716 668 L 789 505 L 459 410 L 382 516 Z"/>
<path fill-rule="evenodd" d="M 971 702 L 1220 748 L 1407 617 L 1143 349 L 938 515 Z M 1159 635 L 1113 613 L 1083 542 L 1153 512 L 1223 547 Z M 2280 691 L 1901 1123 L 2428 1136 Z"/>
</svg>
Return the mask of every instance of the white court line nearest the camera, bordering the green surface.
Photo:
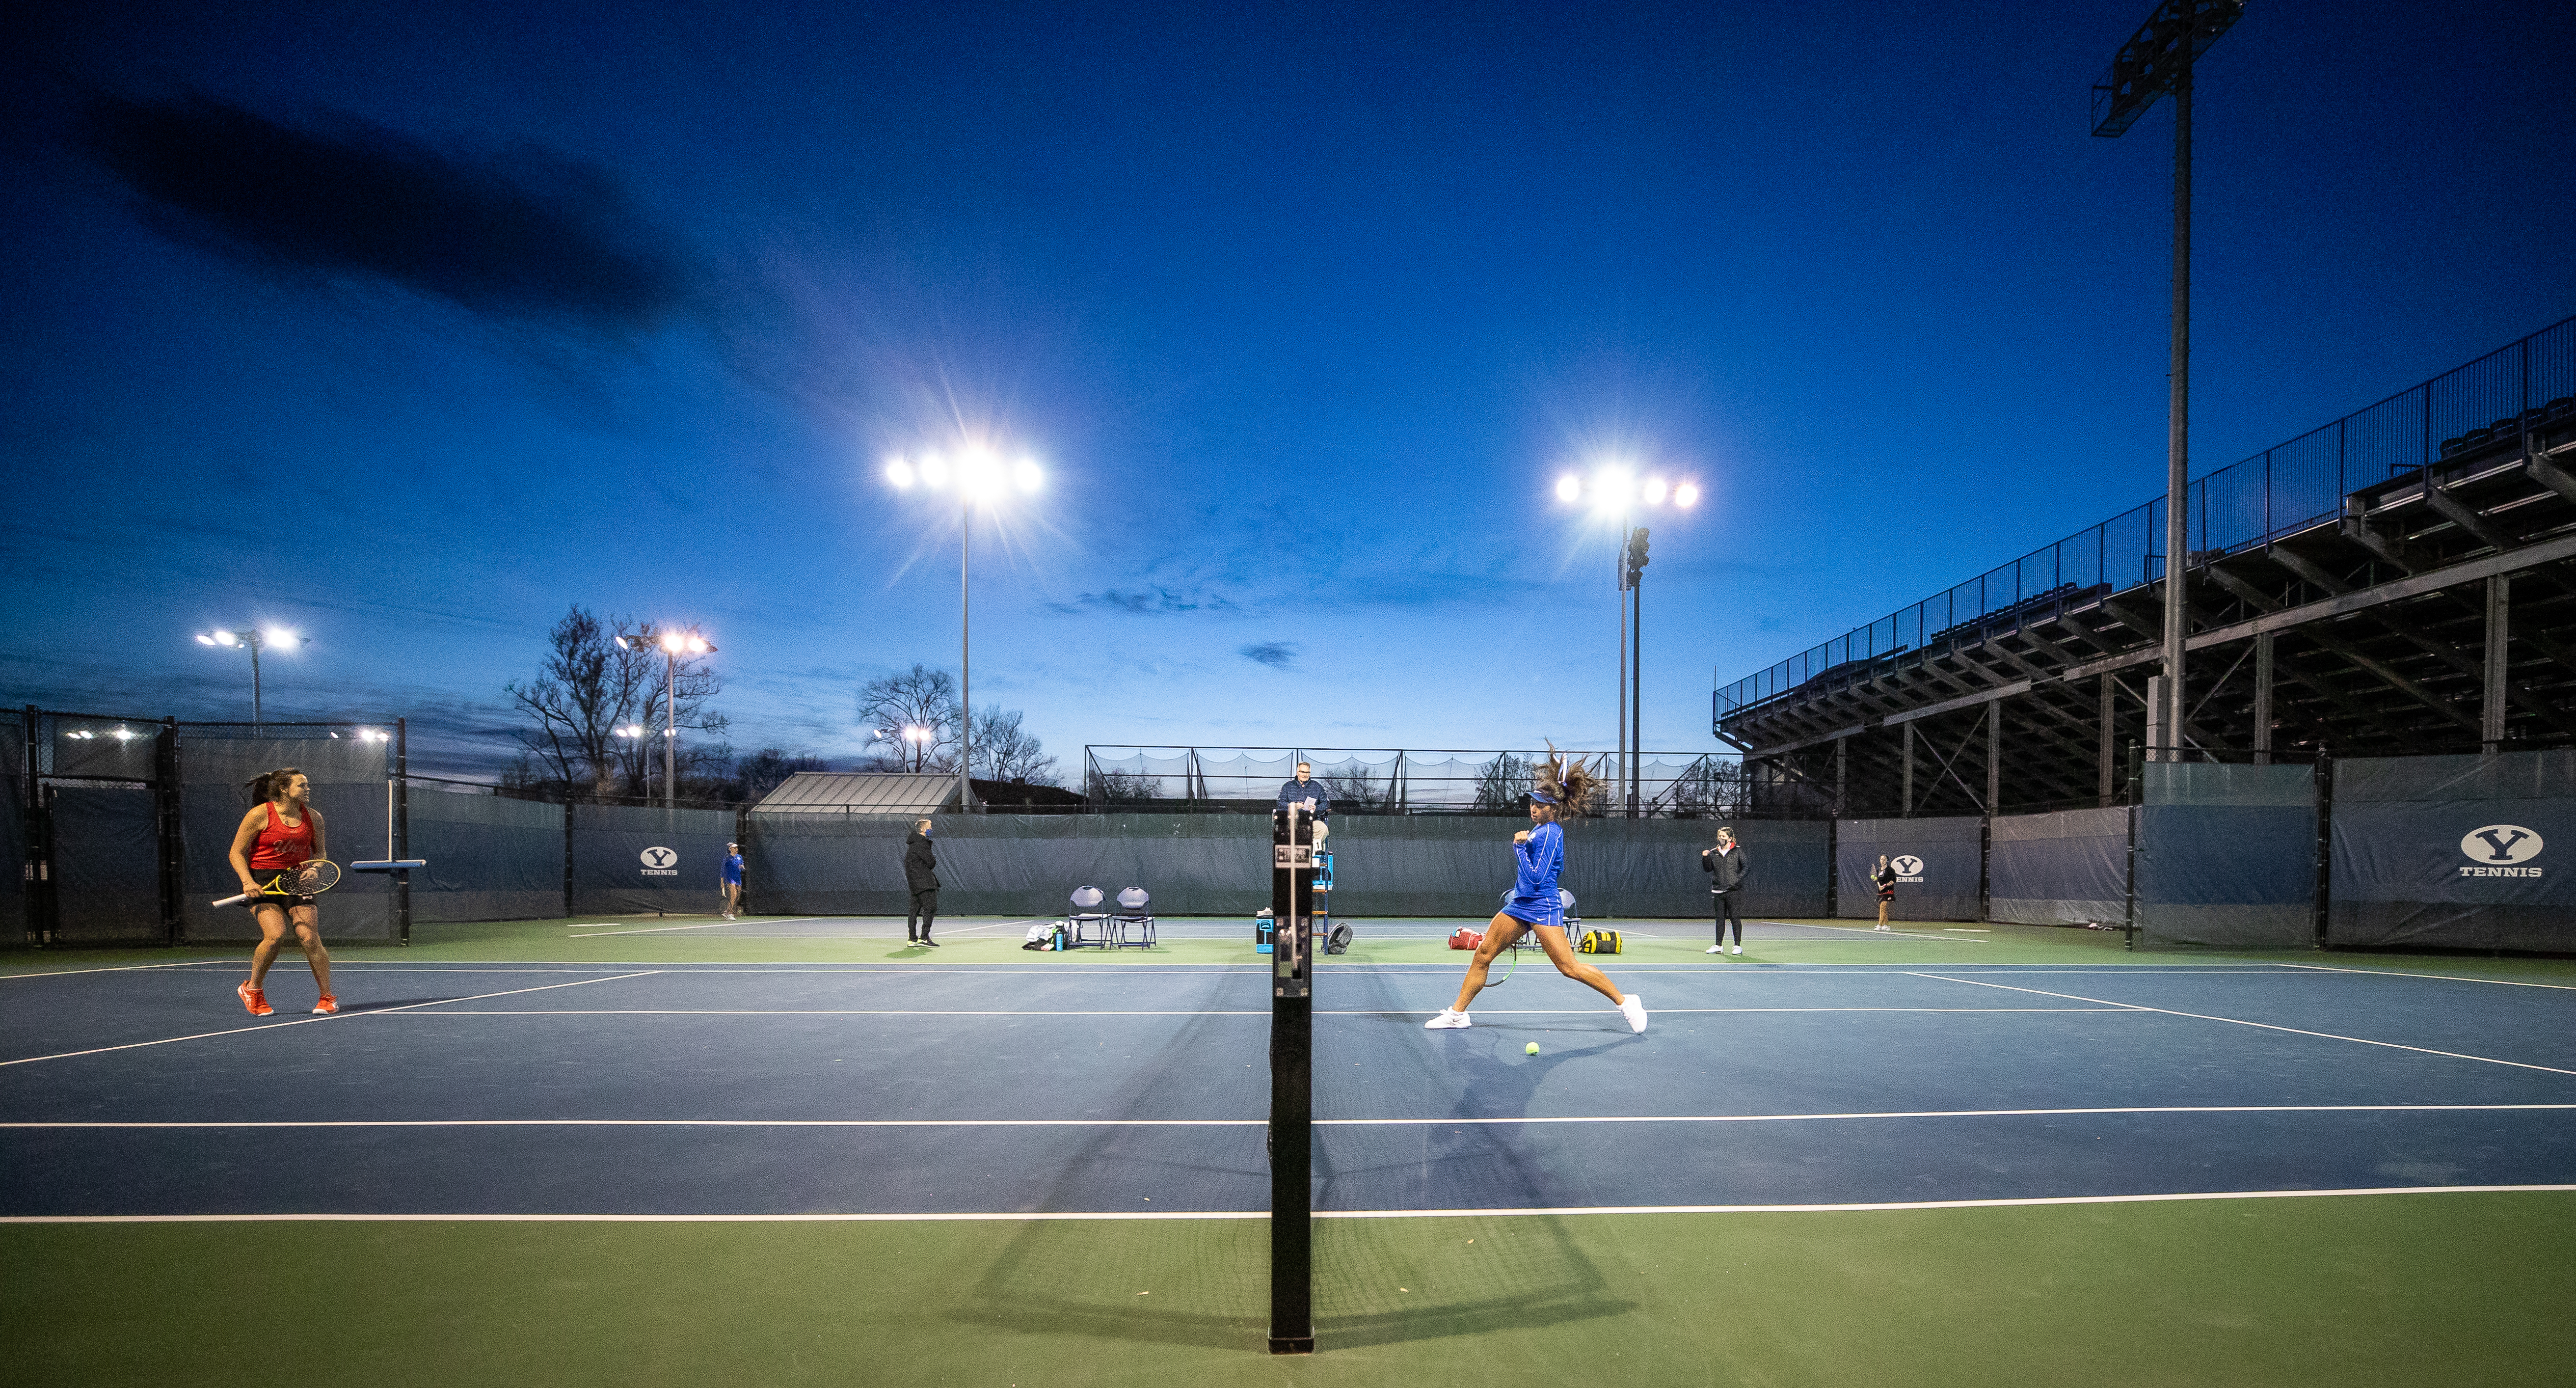
<svg viewBox="0 0 2576 1388">
<path fill-rule="evenodd" d="M 2009 1210 L 2022 1205 L 2154 1205 L 2169 1200 L 2313 1200 L 2329 1195 L 2530 1195 L 2576 1185 L 2378 1185 L 2349 1190 L 2177 1190 L 2161 1195 L 2035 1195 L 2022 1200 L 1893 1200 L 1875 1205 L 1556 1205 L 1533 1210 L 1316 1210 L 1314 1218 L 1520 1218 L 1520 1215 L 1839 1215 L 1896 1210 Z M 1270 1210 L 958 1210 L 899 1215 L 0 1215 L 0 1223 L 1038 1223 L 1038 1221 L 1247 1221 Z"/>
</svg>

